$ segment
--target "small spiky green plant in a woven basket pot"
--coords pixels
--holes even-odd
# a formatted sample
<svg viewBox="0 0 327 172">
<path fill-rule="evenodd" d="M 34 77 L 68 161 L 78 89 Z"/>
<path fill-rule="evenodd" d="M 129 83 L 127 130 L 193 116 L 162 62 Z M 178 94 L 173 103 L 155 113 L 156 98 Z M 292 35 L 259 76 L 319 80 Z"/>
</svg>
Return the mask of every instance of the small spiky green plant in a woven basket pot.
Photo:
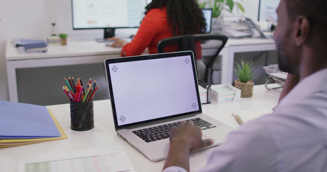
<svg viewBox="0 0 327 172">
<path fill-rule="evenodd" d="M 258 77 L 255 75 L 254 67 L 252 67 L 252 60 L 245 61 L 244 58 L 240 59 L 241 63 L 236 63 L 238 70 L 234 69 L 238 76 L 235 80 L 235 87 L 241 90 L 241 97 L 252 97 L 253 95 L 253 81 Z"/>
</svg>

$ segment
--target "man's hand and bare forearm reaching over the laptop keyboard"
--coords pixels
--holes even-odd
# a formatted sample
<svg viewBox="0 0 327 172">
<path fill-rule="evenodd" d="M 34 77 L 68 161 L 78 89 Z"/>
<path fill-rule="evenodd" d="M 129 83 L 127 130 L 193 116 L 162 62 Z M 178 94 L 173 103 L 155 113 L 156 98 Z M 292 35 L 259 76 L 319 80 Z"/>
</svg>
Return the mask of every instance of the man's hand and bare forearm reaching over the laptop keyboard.
<svg viewBox="0 0 327 172">
<path fill-rule="evenodd" d="M 212 139 L 202 140 L 202 129 L 195 126 L 193 121 L 182 121 L 180 126 L 170 131 L 170 145 L 163 169 L 170 166 L 179 166 L 190 171 L 189 152 L 195 152 L 214 144 Z"/>
</svg>

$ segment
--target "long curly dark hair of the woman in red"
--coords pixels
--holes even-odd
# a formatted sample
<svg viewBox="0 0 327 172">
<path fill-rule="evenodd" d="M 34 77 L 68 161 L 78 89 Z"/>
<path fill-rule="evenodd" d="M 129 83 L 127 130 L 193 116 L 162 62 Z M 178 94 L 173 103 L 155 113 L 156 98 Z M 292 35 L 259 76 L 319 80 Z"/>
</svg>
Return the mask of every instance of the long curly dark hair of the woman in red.
<svg viewBox="0 0 327 172">
<path fill-rule="evenodd" d="M 206 32 L 207 23 L 196 0 L 152 0 L 145 14 L 163 7 L 167 8 L 167 22 L 174 36 Z"/>
</svg>

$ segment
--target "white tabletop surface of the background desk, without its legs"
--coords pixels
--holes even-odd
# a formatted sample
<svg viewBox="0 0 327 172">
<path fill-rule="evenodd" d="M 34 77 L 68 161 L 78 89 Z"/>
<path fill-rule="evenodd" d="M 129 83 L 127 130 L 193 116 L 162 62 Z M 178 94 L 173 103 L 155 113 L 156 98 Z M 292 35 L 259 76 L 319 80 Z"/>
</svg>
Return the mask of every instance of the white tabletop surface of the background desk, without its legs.
<svg viewBox="0 0 327 172">
<path fill-rule="evenodd" d="M 229 46 L 262 44 L 275 44 L 275 42 L 272 39 L 228 39 L 225 48 Z M 214 41 L 208 41 L 206 44 L 203 44 L 202 47 L 203 49 L 216 48 L 216 44 L 214 43 Z M 117 54 L 117 57 L 119 57 L 120 51 L 121 48 L 112 48 L 106 46 L 106 43 L 98 43 L 95 40 L 88 40 L 68 41 L 66 46 L 60 46 L 60 44 L 49 44 L 48 51 L 46 53 L 19 54 L 18 50 L 8 40 L 6 45 L 5 57 L 7 61 L 108 54 Z"/>
</svg>

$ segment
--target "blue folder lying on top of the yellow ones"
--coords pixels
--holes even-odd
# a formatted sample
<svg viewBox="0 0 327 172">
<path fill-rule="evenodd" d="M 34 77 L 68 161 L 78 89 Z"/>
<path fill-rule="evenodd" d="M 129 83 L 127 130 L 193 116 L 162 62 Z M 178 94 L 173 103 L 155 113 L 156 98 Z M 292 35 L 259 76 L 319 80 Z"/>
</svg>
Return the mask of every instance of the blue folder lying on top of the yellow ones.
<svg viewBox="0 0 327 172">
<path fill-rule="evenodd" d="M 45 106 L 0 101 L 0 139 L 60 136 Z"/>
</svg>

